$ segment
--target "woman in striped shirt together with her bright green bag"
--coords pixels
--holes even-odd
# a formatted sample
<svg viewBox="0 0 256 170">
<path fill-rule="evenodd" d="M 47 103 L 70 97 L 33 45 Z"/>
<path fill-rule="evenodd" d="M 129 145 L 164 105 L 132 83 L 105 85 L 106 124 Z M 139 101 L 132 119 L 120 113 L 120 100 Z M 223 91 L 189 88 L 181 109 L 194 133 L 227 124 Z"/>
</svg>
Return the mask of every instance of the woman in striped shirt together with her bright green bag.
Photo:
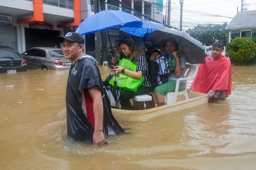
<svg viewBox="0 0 256 170">
<path fill-rule="evenodd" d="M 119 61 L 119 66 L 111 70 L 114 75 L 112 79 L 115 80 L 115 75 L 116 78 L 126 77 L 129 79 L 129 82 L 126 80 L 123 82 L 117 80 L 117 86 L 120 87 L 119 85 L 126 83 L 126 86 L 120 87 L 121 109 L 132 110 L 134 108 L 132 108 L 130 99 L 137 95 L 147 94 L 151 88 L 148 62 L 145 55 L 139 54 L 139 50 L 131 37 L 123 37 L 119 45 L 129 61 L 125 59 Z"/>
</svg>

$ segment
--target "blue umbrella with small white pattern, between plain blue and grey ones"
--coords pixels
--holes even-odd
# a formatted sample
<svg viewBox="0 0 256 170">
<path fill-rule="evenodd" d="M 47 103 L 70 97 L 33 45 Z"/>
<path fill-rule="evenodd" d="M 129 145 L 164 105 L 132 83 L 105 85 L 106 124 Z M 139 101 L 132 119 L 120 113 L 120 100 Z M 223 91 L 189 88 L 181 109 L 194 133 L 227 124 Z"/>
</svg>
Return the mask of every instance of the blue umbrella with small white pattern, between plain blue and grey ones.
<svg viewBox="0 0 256 170">
<path fill-rule="evenodd" d="M 124 24 L 119 30 L 135 35 L 138 37 L 143 37 L 146 33 L 152 33 L 159 28 L 164 28 L 164 24 L 156 23 L 151 21 L 133 21 Z"/>
</svg>

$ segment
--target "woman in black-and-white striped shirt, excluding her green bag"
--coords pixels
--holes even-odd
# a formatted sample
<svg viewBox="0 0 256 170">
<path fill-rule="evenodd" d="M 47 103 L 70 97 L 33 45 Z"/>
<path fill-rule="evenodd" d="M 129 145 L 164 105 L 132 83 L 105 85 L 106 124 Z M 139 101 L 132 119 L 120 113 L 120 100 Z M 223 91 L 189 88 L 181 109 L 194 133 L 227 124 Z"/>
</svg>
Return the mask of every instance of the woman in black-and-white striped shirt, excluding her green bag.
<svg viewBox="0 0 256 170">
<path fill-rule="evenodd" d="M 125 56 L 127 56 L 132 63 L 137 63 L 136 71 L 127 70 L 121 66 L 116 66 L 116 69 L 113 69 L 112 72 L 114 75 L 118 75 L 120 73 L 124 73 L 127 76 L 134 79 L 141 79 L 144 76 L 144 80 L 141 85 L 138 87 L 137 92 L 132 92 L 128 90 L 121 89 L 120 99 L 121 99 L 121 109 L 132 110 L 132 104 L 130 99 L 137 95 L 147 94 L 151 88 L 151 83 L 149 80 L 149 72 L 148 72 L 148 62 L 146 60 L 145 55 L 138 55 L 139 50 L 136 47 L 133 39 L 131 37 L 123 37 L 119 43 L 120 48 L 122 49 Z"/>
</svg>

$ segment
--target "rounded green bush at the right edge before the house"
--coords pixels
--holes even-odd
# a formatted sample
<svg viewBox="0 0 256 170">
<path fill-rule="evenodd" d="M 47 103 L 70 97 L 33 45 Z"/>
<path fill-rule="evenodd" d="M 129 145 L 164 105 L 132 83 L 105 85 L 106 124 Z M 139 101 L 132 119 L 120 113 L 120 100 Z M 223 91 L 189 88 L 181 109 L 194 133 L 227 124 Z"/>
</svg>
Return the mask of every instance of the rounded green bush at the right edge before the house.
<svg viewBox="0 0 256 170">
<path fill-rule="evenodd" d="M 255 55 L 255 43 L 252 39 L 237 37 L 226 46 L 227 54 L 236 65 L 246 65 Z"/>
</svg>

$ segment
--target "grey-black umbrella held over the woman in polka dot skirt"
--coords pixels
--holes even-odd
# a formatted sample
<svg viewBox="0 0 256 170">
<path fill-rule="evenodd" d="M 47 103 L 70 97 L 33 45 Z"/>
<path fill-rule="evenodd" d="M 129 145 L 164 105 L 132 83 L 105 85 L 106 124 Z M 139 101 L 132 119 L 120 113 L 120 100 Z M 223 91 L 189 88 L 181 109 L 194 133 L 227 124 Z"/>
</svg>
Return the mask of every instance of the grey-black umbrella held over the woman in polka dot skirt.
<svg viewBox="0 0 256 170">
<path fill-rule="evenodd" d="M 148 34 L 148 38 L 156 48 L 162 51 L 165 51 L 164 41 L 176 40 L 179 44 L 177 51 L 186 57 L 186 62 L 190 64 L 205 63 L 202 43 L 185 32 L 165 27 Z"/>
</svg>

